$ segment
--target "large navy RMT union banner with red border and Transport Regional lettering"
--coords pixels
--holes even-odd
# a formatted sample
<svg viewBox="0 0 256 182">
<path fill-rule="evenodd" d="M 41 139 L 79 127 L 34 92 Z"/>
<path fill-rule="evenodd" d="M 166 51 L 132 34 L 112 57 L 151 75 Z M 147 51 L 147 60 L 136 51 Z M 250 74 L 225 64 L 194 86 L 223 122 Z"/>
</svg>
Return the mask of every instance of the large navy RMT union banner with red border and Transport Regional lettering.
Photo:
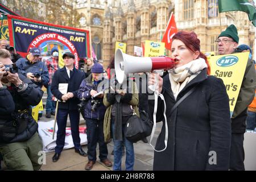
<svg viewBox="0 0 256 182">
<path fill-rule="evenodd" d="M 39 22 L 32 19 L 7 15 L 10 45 L 23 57 L 32 47 L 40 48 L 42 60 L 51 56 L 51 49 L 72 52 L 75 66 L 80 58 L 90 57 L 89 31 L 79 28 Z M 60 55 L 62 56 L 62 55 Z"/>
</svg>

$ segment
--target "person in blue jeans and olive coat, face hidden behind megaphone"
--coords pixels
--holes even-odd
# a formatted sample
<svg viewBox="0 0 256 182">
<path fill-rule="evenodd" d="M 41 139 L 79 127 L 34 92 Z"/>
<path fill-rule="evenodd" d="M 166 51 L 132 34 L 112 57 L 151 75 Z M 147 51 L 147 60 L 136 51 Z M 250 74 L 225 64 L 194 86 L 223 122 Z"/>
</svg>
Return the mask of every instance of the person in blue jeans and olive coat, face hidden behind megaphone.
<svg viewBox="0 0 256 182">
<path fill-rule="evenodd" d="M 133 115 L 133 109 L 139 117 L 139 96 L 135 82 L 129 78 L 119 84 L 117 80 L 110 84 L 109 90 L 104 95 L 104 105 L 107 107 L 104 118 L 105 141 L 113 134 L 114 140 L 114 171 L 121 171 L 122 168 L 122 143 L 126 148 L 126 171 L 133 171 L 134 167 L 134 147 L 133 143 L 126 139 L 125 125 L 127 120 Z"/>
</svg>

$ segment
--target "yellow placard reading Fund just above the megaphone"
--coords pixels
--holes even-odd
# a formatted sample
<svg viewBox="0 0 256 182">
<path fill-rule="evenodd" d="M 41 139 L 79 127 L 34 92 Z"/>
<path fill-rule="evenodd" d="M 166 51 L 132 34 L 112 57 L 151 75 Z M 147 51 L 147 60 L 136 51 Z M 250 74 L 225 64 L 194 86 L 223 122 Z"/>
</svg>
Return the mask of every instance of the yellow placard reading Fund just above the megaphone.
<svg viewBox="0 0 256 182">
<path fill-rule="evenodd" d="M 154 42 L 150 40 L 145 41 L 145 57 L 164 56 L 165 43 Z"/>
</svg>

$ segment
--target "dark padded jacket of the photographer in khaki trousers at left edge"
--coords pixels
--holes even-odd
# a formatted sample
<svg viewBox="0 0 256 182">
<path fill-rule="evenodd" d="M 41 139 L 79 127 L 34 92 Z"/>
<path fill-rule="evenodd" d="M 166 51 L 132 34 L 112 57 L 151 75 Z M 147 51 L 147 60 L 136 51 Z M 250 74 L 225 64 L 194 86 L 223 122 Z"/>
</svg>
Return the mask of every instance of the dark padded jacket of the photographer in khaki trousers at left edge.
<svg viewBox="0 0 256 182">
<path fill-rule="evenodd" d="M 19 78 L 27 84 L 27 89 L 17 92 L 14 85 L 0 89 L 0 143 L 24 142 L 38 130 L 38 124 L 31 115 L 31 105 L 39 104 L 43 91 L 23 75 L 19 74 Z M 27 110 L 27 127 L 19 134 L 13 118 L 18 110 Z"/>
</svg>

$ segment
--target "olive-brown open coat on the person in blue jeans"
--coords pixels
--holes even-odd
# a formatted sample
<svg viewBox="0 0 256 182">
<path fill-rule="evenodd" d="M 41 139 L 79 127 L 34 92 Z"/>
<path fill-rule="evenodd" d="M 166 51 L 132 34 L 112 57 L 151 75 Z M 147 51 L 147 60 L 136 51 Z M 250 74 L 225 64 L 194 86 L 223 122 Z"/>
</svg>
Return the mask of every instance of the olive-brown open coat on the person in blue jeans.
<svg viewBox="0 0 256 182">
<path fill-rule="evenodd" d="M 129 104 L 131 106 L 133 106 L 133 109 L 135 111 L 135 113 L 138 115 L 139 117 L 139 110 L 138 110 L 138 104 L 139 104 L 139 96 L 138 96 L 138 89 L 137 86 L 135 84 L 135 82 L 133 83 L 133 93 L 132 93 L 132 97 L 131 100 L 129 102 Z M 109 102 L 107 94 L 109 94 L 109 89 L 105 90 L 105 94 L 104 94 L 104 99 L 103 99 L 103 103 L 106 106 L 106 113 L 105 113 L 105 117 L 104 117 L 104 124 L 103 124 L 103 128 L 104 128 L 104 139 L 105 142 L 108 142 L 110 138 L 112 138 L 111 136 L 111 112 L 112 112 L 112 106 L 114 104 L 113 102 Z"/>
</svg>

